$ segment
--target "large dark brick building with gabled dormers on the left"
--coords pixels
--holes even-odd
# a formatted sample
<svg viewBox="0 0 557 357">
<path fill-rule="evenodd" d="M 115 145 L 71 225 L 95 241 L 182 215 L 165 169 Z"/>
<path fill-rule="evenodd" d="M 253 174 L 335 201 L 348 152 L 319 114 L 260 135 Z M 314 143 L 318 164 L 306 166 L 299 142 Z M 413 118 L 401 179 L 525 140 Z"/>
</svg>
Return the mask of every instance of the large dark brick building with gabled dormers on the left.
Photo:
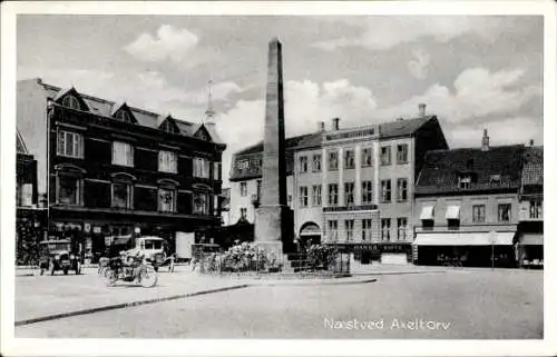
<svg viewBox="0 0 557 357">
<path fill-rule="evenodd" d="M 214 123 L 193 123 L 62 90 L 18 82 L 18 129 L 37 160 L 49 232 L 91 256 L 105 237 L 217 226 L 222 152 Z"/>
</svg>

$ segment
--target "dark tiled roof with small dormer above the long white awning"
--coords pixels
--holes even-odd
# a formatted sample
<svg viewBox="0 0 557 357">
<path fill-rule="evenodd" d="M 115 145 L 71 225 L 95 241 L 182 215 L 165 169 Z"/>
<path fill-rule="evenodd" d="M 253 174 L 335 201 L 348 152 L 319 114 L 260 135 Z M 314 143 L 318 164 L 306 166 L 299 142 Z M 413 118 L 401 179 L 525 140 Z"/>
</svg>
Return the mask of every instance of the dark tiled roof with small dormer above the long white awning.
<svg viewBox="0 0 557 357">
<path fill-rule="evenodd" d="M 521 145 L 452 150 L 426 153 L 416 185 L 417 195 L 479 192 L 520 187 Z M 470 176 L 469 188 L 459 188 L 459 176 Z"/>
</svg>

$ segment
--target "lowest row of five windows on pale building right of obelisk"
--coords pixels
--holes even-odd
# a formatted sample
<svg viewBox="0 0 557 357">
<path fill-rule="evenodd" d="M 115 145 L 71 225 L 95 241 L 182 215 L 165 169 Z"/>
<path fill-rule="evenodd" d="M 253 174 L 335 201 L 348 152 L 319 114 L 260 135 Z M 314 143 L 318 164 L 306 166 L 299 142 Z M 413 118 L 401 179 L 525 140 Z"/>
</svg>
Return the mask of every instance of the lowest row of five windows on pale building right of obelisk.
<svg viewBox="0 0 557 357">
<path fill-rule="evenodd" d="M 354 236 L 356 235 L 354 230 L 354 219 L 344 220 L 344 232 L 346 241 L 353 240 Z M 339 221 L 334 219 L 328 220 L 326 228 L 326 236 L 329 237 L 329 239 L 336 240 L 339 236 Z M 381 218 L 380 234 L 381 241 L 391 241 L 393 238 L 395 238 L 397 240 L 405 241 L 410 237 L 408 232 L 408 218 L 397 218 L 397 237 L 391 236 L 391 218 Z M 362 240 L 371 240 L 372 225 L 370 218 L 362 219 L 362 229 L 360 235 Z"/>
</svg>

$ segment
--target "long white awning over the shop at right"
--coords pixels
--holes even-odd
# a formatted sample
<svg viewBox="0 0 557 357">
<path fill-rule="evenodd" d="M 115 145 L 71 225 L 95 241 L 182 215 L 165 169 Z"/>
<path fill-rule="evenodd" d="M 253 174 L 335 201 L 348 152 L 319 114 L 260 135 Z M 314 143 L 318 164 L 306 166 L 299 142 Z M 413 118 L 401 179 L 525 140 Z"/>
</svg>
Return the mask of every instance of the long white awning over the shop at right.
<svg viewBox="0 0 557 357">
<path fill-rule="evenodd" d="M 495 246 L 511 246 L 514 231 L 495 234 Z M 418 234 L 414 246 L 491 246 L 489 232 L 438 232 Z"/>
</svg>

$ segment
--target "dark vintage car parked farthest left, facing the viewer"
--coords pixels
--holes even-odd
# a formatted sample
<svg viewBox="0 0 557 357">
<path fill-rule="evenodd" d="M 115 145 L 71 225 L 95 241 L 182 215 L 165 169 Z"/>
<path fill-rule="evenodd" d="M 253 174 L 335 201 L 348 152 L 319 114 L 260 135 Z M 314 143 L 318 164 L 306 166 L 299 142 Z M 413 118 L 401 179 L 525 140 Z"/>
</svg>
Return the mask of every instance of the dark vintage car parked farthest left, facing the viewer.
<svg viewBox="0 0 557 357">
<path fill-rule="evenodd" d="M 65 275 L 72 270 L 78 275 L 81 272 L 81 262 L 79 256 L 71 251 L 69 239 L 46 240 L 40 242 L 39 268 L 40 275 L 45 271 L 55 275 L 58 270 L 62 270 Z"/>
</svg>

